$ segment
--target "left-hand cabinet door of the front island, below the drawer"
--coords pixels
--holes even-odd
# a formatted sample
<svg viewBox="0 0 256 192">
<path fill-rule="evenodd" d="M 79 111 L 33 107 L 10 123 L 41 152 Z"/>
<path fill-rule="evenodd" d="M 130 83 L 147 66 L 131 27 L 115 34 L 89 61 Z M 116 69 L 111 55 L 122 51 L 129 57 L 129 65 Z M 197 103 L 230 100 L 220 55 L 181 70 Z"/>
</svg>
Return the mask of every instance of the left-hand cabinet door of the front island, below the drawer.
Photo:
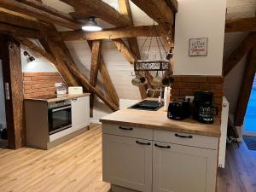
<svg viewBox="0 0 256 192">
<path fill-rule="evenodd" d="M 103 134 L 103 181 L 152 191 L 152 142 Z"/>
</svg>

